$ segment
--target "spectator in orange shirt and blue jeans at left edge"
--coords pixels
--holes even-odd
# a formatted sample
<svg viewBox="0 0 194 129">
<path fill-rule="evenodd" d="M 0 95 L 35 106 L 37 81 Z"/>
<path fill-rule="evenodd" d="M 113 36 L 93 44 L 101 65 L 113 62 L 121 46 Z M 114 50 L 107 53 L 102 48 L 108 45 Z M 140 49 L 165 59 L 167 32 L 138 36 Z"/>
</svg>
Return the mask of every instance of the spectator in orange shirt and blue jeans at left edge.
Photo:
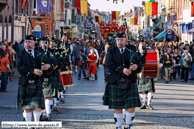
<svg viewBox="0 0 194 129">
<path fill-rule="evenodd" d="M 8 83 L 8 72 L 11 72 L 9 67 L 9 54 L 7 51 L 3 53 L 3 58 L 1 59 L 1 92 L 9 92 L 7 91 L 7 83 Z"/>
</svg>

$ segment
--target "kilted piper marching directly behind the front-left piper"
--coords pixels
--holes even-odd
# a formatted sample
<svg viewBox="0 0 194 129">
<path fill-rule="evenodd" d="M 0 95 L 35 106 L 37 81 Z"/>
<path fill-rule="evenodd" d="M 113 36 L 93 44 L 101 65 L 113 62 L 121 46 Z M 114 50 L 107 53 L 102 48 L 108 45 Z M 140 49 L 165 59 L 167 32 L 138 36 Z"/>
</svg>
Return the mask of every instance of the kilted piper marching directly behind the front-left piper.
<svg viewBox="0 0 194 129">
<path fill-rule="evenodd" d="M 45 40 L 46 38 L 41 38 L 41 60 L 42 60 L 42 65 L 45 63 L 49 63 L 52 68 L 43 71 L 44 73 L 44 82 L 43 82 L 43 94 L 44 94 L 44 102 L 45 102 L 45 109 L 42 110 L 42 115 L 41 115 L 41 121 L 51 121 L 51 109 L 53 105 L 53 100 L 52 97 L 56 96 L 56 78 L 54 74 L 54 67 L 56 66 L 55 59 L 50 55 L 49 50 L 47 49 L 47 44 L 45 45 Z"/>
</svg>

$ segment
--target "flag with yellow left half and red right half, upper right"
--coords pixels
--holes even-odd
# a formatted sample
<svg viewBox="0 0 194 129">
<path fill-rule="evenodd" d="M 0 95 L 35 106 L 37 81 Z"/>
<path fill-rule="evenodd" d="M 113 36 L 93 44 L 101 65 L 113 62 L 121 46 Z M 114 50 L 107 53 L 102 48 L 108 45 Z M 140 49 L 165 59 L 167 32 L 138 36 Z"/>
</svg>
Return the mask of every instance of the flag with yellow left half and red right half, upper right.
<svg viewBox="0 0 194 129">
<path fill-rule="evenodd" d="M 146 2 L 146 16 L 154 16 L 158 17 L 158 2 Z"/>
</svg>

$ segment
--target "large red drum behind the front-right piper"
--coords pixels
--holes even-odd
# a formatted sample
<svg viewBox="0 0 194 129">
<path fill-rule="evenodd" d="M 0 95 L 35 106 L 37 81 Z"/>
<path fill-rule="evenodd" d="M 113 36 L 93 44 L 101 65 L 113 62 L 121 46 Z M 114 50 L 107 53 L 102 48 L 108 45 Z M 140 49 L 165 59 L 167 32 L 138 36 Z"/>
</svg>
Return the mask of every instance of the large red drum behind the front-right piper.
<svg viewBox="0 0 194 129">
<path fill-rule="evenodd" d="M 146 64 L 139 75 L 140 78 L 158 78 L 160 70 L 159 52 L 156 50 L 148 50 L 146 56 Z"/>
</svg>

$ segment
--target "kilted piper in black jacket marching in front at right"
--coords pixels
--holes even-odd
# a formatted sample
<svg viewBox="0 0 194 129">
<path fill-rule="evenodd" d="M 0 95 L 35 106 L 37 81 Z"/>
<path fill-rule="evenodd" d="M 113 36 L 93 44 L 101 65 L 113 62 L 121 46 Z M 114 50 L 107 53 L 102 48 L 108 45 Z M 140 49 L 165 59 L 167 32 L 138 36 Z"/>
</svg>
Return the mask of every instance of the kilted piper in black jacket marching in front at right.
<svg viewBox="0 0 194 129">
<path fill-rule="evenodd" d="M 127 46 L 125 33 L 118 33 L 116 46 L 108 49 L 105 61 L 107 85 L 103 96 L 103 105 L 109 106 L 109 109 L 115 109 L 114 118 L 117 129 L 122 127 L 122 109 L 126 109 L 124 129 L 130 129 L 135 107 L 141 106 L 136 81 L 137 73 L 141 72 L 146 59 L 140 58 L 136 64 L 131 64 L 128 49 L 136 51 L 135 47 Z"/>
</svg>

